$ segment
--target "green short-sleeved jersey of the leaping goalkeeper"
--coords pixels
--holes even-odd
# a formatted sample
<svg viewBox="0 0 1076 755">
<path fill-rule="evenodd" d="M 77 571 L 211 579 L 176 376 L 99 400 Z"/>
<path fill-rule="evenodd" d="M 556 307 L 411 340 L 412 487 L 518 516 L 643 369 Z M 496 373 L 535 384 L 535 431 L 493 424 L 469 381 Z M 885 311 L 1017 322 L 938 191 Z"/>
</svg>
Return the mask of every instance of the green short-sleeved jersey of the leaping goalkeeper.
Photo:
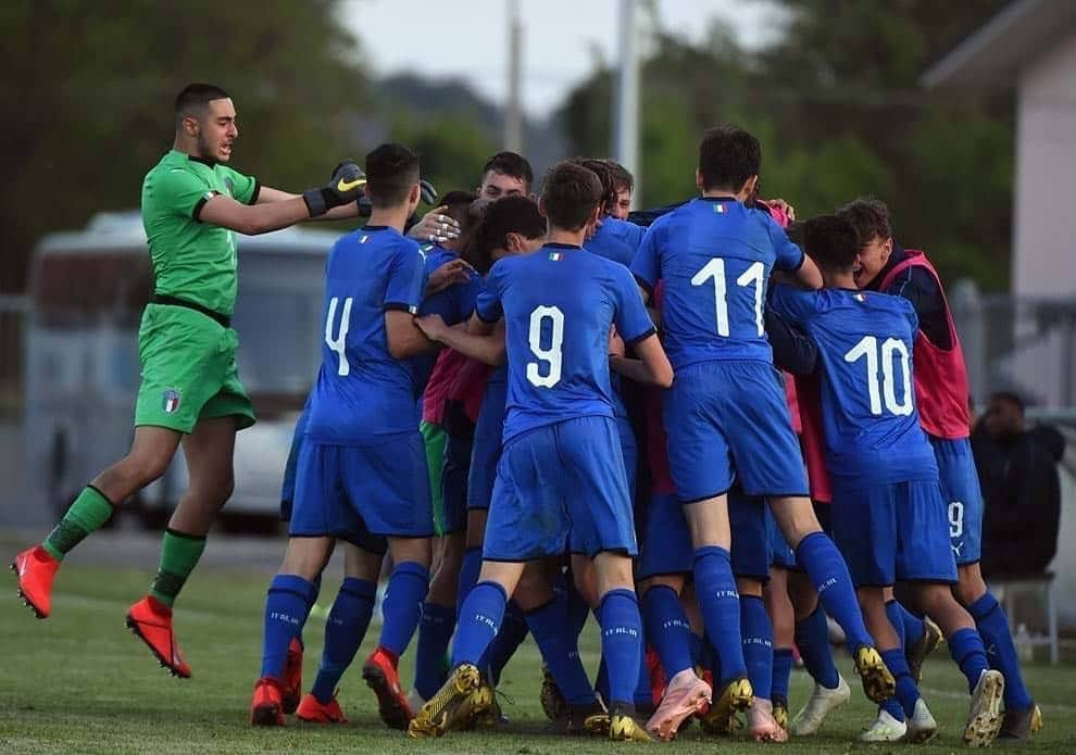
<svg viewBox="0 0 1076 755">
<path fill-rule="evenodd" d="M 220 163 L 171 150 L 142 181 L 142 225 L 149 239 L 155 293 L 230 316 L 236 305 L 236 234 L 200 223 L 214 194 L 252 204 L 258 180 Z"/>
</svg>

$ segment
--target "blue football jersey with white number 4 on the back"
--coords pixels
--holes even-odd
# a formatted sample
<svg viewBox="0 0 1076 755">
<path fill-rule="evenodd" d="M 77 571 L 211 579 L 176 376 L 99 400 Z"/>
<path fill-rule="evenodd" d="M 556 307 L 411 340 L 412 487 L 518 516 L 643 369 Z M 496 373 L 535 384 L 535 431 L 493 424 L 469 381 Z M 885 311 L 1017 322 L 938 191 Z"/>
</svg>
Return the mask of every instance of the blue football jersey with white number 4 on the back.
<svg viewBox="0 0 1076 755">
<path fill-rule="evenodd" d="M 393 228 L 366 226 L 333 244 L 325 269 L 322 366 L 306 436 L 362 445 L 418 427 L 412 360 L 388 351 L 385 313 L 416 313 L 426 286 L 418 244 Z"/>
</svg>

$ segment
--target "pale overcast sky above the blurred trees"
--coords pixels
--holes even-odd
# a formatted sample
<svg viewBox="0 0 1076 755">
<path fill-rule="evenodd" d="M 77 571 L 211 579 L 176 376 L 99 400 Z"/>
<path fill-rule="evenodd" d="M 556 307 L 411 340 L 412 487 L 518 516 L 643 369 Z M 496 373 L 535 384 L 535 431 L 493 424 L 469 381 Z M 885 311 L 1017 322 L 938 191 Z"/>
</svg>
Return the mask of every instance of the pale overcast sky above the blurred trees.
<svg viewBox="0 0 1076 755">
<path fill-rule="evenodd" d="M 662 26 L 692 40 L 710 21 L 731 24 L 747 45 L 772 36 L 775 12 L 758 0 L 658 0 Z M 618 0 L 520 0 L 523 20 L 523 103 L 539 117 L 616 50 Z M 509 0 L 346 0 L 345 21 L 378 76 L 413 71 L 463 76 L 503 102 L 508 88 Z M 600 52 L 599 52 L 600 51 Z"/>
</svg>

